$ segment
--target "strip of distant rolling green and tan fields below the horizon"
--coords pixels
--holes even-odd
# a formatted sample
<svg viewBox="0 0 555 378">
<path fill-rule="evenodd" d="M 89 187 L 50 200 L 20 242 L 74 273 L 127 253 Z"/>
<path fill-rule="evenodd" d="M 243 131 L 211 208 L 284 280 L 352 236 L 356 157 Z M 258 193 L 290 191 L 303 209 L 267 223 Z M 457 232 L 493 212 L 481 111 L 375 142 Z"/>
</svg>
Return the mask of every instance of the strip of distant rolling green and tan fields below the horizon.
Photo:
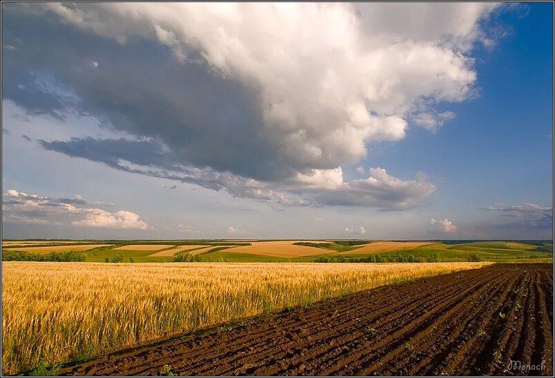
<svg viewBox="0 0 555 378">
<path fill-rule="evenodd" d="M 4 241 L 11 243 L 14 241 Z M 104 243 L 103 243 L 104 242 Z M 240 243 L 251 245 L 237 246 Z M 21 241 L 17 241 L 21 243 Z M 411 261 L 481 261 L 510 262 L 523 259 L 550 261 L 553 243 L 543 241 L 356 241 L 356 240 L 161 240 L 161 241 L 28 241 L 29 245 L 4 246 L 5 250 L 19 250 L 48 254 L 49 252 L 82 251 L 85 261 L 101 262 L 121 256 L 126 262 L 166 262 L 177 252 L 199 255 L 206 262 L 311 262 L 319 257 L 327 259 L 361 259 L 379 255 L 382 261 L 397 261 L 411 257 Z M 35 246 L 33 243 L 40 243 Z M 48 246 L 45 243 L 64 243 Z M 71 245 L 72 243 L 79 245 Z M 235 244 L 235 246 L 233 245 Z M 348 261 L 348 260 L 347 260 Z"/>
</svg>

